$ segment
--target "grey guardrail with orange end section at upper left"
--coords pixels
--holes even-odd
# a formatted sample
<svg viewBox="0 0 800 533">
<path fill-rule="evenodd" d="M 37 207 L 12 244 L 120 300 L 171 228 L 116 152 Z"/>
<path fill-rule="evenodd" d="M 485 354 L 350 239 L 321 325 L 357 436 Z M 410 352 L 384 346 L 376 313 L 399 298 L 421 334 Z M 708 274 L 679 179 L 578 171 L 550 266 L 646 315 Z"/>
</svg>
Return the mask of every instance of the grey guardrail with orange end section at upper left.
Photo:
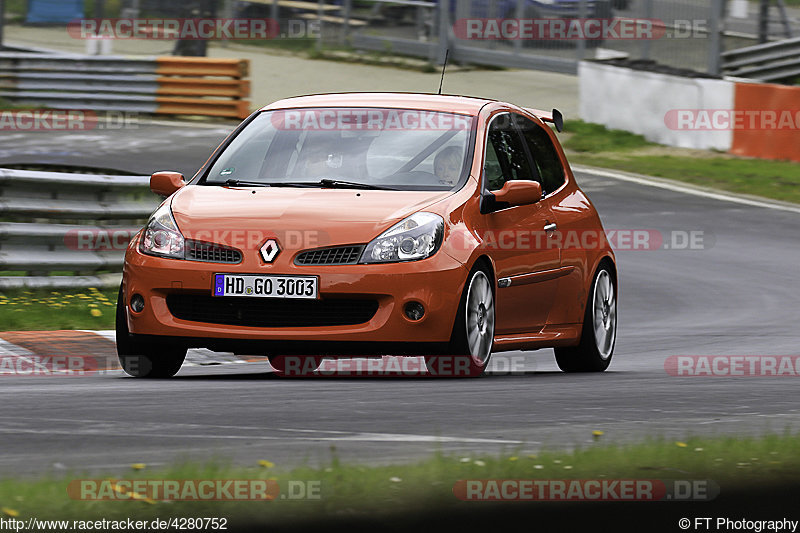
<svg viewBox="0 0 800 533">
<path fill-rule="evenodd" d="M 250 114 L 248 75 L 243 59 L 2 52 L 0 98 L 57 109 L 242 119 Z"/>
</svg>

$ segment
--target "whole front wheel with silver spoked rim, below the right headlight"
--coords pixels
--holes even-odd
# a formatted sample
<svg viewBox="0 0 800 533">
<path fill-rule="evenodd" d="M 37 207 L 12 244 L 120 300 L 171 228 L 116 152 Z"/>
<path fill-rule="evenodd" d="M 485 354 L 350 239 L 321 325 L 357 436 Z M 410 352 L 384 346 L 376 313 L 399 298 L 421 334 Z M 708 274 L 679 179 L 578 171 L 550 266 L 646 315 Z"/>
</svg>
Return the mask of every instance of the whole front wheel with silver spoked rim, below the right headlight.
<svg viewBox="0 0 800 533">
<path fill-rule="evenodd" d="M 425 358 L 435 376 L 480 376 L 489 364 L 494 343 L 494 285 L 482 267 L 470 273 L 461 296 L 450 339 L 453 355 Z"/>
</svg>

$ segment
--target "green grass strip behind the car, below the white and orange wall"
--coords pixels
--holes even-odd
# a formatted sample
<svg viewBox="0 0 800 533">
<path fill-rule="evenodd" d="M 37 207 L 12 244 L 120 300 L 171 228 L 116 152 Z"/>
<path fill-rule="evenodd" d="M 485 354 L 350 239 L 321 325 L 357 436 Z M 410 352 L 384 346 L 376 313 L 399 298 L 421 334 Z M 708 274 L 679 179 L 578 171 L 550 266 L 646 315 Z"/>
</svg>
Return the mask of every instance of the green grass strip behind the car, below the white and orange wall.
<svg viewBox="0 0 800 533">
<path fill-rule="evenodd" d="M 800 203 L 800 163 L 662 147 L 632 133 L 567 121 L 573 164 L 613 168 L 725 191 Z"/>
</svg>

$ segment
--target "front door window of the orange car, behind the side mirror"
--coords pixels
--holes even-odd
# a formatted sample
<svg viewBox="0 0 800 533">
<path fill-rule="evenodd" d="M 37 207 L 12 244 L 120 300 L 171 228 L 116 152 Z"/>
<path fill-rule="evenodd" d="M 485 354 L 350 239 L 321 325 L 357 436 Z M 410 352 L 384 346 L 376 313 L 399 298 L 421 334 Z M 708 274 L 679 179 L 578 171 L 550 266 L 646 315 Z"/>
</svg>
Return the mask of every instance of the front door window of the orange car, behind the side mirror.
<svg viewBox="0 0 800 533">
<path fill-rule="evenodd" d="M 508 113 L 496 116 L 489 125 L 484 173 L 489 190 L 503 187 L 508 180 L 535 179 L 522 139 Z"/>
</svg>

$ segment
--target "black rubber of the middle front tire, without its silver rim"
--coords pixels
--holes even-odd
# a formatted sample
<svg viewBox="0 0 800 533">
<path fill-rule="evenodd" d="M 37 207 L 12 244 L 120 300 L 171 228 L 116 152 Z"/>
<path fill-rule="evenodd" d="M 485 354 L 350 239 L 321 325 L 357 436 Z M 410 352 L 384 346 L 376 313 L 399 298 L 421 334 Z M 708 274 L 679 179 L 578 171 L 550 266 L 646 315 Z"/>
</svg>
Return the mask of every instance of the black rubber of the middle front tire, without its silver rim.
<svg viewBox="0 0 800 533">
<path fill-rule="evenodd" d="M 488 285 L 484 286 L 484 283 Z M 481 286 L 479 287 L 477 284 Z M 494 285 L 494 277 L 482 265 L 476 265 L 470 271 L 464 284 L 456 321 L 450 336 L 450 354 L 425 357 L 425 365 L 428 367 L 430 375 L 436 377 L 478 377 L 486 371 L 492 356 L 491 348 L 494 341 Z M 478 319 L 476 322 L 474 313 L 471 315 L 472 319 L 468 317 L 470 315 L 468 299 L 472 299 L 473 294 L 471 291 L 479 289 L 485 291 L 486 288 L 488 288 L 488 294 L 485 293 L 486 297 L 483 298 L 486 300 L 484 319 Z M 470 326 L 470 321 L 473 322 L 472 326 Z M 474 346 L 470 346 L 470 336 L 468 334 L 470 329 L 474 330 L 473 332 L 478 335 L 479 345 L 481 345 L 478 350 Z M 483 341 L 481 342 L 480 339 L 483 339 Z M 488 342 L 488 349 L 485 347 L 485 342 Z"/>
</svg>

